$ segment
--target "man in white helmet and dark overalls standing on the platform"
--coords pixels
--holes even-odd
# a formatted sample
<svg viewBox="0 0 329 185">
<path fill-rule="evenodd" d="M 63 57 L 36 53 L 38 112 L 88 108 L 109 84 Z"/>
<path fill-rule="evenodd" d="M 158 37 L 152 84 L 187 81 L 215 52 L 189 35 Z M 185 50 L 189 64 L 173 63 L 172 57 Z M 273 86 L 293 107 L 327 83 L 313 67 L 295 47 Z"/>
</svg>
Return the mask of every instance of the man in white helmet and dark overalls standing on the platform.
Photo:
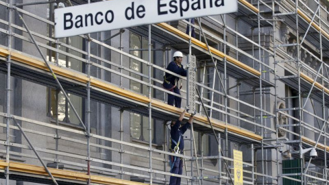
<svg viewBox="0 0 329 185">
<path fill-rule="evenodd" d="M 183 60 L 183 53 L 180 51 L 176 51 L 175 53 L 173 53 L 173 61 L 168 64 L 167 70 L 186 77 L 186 70 L 183 68 L 182 60 Z M 166 73 L 164 75 L 164 82 L 162 86 L 167 90 L 170 90 L 171 92 L 180 95 L 180 88 L 182 88 L 182 86 L 178 88 L 179 80 L 180 77 L 176 77 L 174 75 Z M 173 106 L 174 101 L 175 101 L 175 107 L 180 108 L 182 104 L 182 98 L 168 94 L 168 105 Z"/>
</svg>

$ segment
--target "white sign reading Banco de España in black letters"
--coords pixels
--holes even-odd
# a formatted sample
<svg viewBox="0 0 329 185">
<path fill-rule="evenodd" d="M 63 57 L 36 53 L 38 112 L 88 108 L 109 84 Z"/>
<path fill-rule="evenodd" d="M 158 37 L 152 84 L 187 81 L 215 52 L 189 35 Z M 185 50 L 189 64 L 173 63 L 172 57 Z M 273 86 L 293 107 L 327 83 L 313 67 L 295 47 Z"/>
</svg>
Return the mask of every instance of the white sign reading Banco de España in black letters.
<svg viewBox="0 0 329 185">
<path fill-rule="evenodd" d="M 237 0 L 111 0 L 55 10 L 55 37 L 228 14 Z"/>
</svg>

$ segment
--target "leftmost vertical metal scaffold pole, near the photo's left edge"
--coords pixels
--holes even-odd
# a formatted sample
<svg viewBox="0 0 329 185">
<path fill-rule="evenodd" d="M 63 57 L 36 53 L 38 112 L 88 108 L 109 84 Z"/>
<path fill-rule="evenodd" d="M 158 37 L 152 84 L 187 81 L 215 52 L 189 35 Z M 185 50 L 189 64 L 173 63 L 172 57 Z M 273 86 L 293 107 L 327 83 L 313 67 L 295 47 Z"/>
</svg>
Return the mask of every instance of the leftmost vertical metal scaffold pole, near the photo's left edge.
<svg viewBox="0 0 329 185">
<path fill-rule="evenodd" d="M 8 8 L 8 50 L 12 50 L 12 0 L 9 0 L 10 8 Z M 5 123 L 6 123 L 6 133 L 5 133 L 5 140 L 6 140 L 6 147 L 5 147 L 5 162 L 9 164 L 9 156 L 10 156 L 10 65 L 11 65 L 11 53 L 7 57 L 7 99 L 6 99 L 6 110 L 5 113 L 7 114 Z M 5 184 L 9 185 L 9 165 L 5 168 Z"/>
</svg>

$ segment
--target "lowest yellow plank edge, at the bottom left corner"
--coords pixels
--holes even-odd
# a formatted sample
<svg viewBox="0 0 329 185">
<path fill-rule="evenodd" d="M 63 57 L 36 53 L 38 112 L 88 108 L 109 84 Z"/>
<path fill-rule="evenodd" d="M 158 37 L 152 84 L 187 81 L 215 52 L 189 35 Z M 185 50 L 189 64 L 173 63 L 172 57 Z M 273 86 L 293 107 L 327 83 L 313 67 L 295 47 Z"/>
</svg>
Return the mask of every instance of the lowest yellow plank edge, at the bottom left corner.
<svg viewBox="0 0 329 185">
<path fill-rule="evenodd" d="M 45 175 L 49 176 L 44 167 L 39 167 L 31 164 L 24 164 L 19 162 L 3 162 L 0 161 L 0 169 L 5 169 L 9 167 L 9 171 L 16 171 L 21 173 L 28 173 L 34 175 Z M 98 184 L 111 184 L 111 185 L 146 185 L 141 182 L 132 182 L 128 180 L 119 180 L 111 177 L 103 177 L 99 175 L 86 175 L 85 173 L 68 171 L 62 169 L 52 169 L 48 168 L 53 177 L 59 177 L 66 180 L 78 180 L 87 182 L 90 179 L 92 183 Z M 50 177 L 49 177 L 50 179 Z"/>
</svg>

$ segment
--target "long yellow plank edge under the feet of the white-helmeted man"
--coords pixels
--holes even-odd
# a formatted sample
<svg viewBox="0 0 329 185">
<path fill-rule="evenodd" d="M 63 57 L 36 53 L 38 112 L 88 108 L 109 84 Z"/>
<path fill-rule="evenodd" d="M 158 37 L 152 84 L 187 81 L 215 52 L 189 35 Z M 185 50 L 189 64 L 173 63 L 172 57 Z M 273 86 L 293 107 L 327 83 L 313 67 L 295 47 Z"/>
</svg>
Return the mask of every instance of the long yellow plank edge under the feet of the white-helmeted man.
<svg viewBox="0 0 329 185">
<path fill-rule="evenodd" d="M 46 66 L 45 62 L 36 60 L 34 58 L 30 58 L 29 56 L 24 56 L 22 53 L 16 53 L 14 51 L 12 51 L 10 53 L 12 55 L 12 60 L 14 60 L 16 62 L 21 62 L 22 64 L 32 66 L 36 69 L 42 69 L 44 71 L 49 71 L 49 69 L 47 69 L 47 66 Z M 7 52 L 7 50 L 5 50 L 5 49 L 0 48 L 0 55 L 1 54 L 8 56 L 9 52 Z M 53 69 L 53 72 L 56 73 L 56 75 L 60 75 L 62 77 L 67 77 L 69 79 L 73 79 L 76 82 L 87 83 L 88 80 L 89 80 L 89 78 L 86 77 L 85 74 L 74 72 L 74 71 L 71 71 L 71 70 L 66 69 L 64 67 L 57 67 L 57 66 L 51 66 L 51 67 Z M 152 107 L 160 108 L 162 110 L 167 110 L 167 111 L 173 112 L 175 114 L 180 114 L 182 112 L 182 109 L 180 109 L 180 108 L 175 108 L 173 106 L 169 106 L 166 103 L 163 103 L 162 101 L 158 101 L 158 100 L 155 100 L 155 99 L 149 99 L 148 97 L 145 97 L 143 95 L 139 95 L 138 93 L 134 93 L 134 92 L 131 92 L 129 90 L 125 90 L 123 88 L 113 86 L 111 84 L 108 84 L 106 82 L 102 82 L 101 80 L 95 79 L 93 77 L 90 77 L 90 85 L 92 87 L 97 87 L 97 88 L 100 88 L 102 90 L 106 90 L 108 92 L 115 93 L 117 95 L 121 95 L 122 97 L 127 97 L 129 99 L 134 100 L 134 101 L 138 101 L 138 102 L 142 102 L 142 103 L 150 103 L 151 102 Z M 186 113 L 186 116 L 189 116 L 189 114 Z M 195 115 L 195 120 L 200 121 L 200 122 L 205 123 L 205 124 L 209 124 L 207 118 L 205 116 L 202 116 L 202 115 Z M 226 125 L 225 123 L 223 123 L 221 121 L 218 121 L 218 120 L 215 120 L 215 119 L 211 119 L 211 122 L 214 125 L 214 127 L 217 127 L 217 128 L 220 128 L 220 129 L 228 128 L 229 132 L 239 134 L 241 136 L 246 136 L 246 137 L 252 138 L 254 140 L 262 140 L 263 139 L 262 136 L 254 134 L 253 132 L 250 132 L 248 130 L 243 130 L 240 127 L 236 127 L 234 125 Z"/>
</svg>

